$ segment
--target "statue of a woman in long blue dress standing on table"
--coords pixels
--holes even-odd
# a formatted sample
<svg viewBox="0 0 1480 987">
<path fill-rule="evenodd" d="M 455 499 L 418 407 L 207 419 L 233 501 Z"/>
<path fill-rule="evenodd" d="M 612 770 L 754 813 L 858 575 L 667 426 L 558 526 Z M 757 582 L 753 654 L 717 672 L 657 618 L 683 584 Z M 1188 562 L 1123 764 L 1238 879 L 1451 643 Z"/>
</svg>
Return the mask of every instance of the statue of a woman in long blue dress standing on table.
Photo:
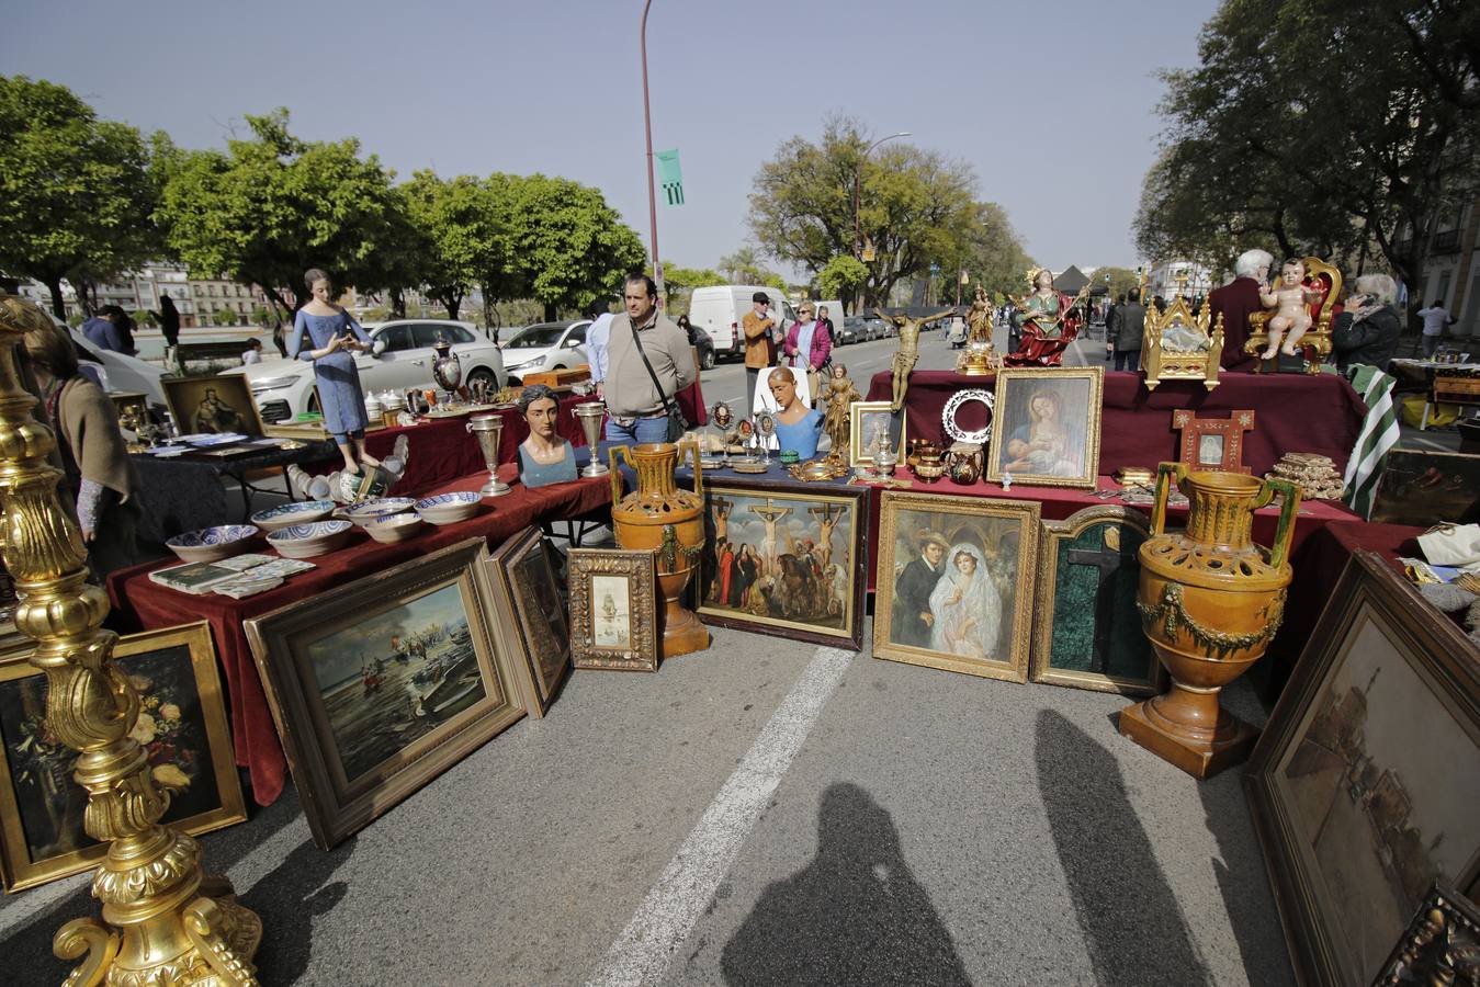
<svg viewBox="0 0 1480 987">
<path fill-rule="evenodd" d="M 345 472 L 358 476 L 360 465 L 379 466 L 366 454 L 366 395 L 360 389 L 355 354 L 370 352 L 370 337 L 349 312 L 333 303 L 329 275 L 318 268 L 303 274 L 314 297 L 293 318 L 289 358 L 314 364 L 314 383 L 324 411 L 324 429 L 345 457 Z M 309 348 L 303 346 L 308 336 Z"/>
</svg>

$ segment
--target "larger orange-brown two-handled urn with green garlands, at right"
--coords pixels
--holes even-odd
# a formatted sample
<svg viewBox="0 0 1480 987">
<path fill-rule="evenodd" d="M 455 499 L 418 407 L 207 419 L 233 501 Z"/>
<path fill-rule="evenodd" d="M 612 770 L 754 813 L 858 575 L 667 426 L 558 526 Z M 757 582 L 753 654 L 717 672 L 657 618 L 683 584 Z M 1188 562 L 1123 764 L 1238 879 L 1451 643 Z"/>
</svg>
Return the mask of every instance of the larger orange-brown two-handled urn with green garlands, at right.
<svg viewBox="0 0 1480 987">
<path fill-rule="evenodd" d="M 1187 494 L 1187 528 L 1166 531 L 1171 481 Z M 1254 512 L 1283 494 L 1274 546 L 1251 539 Z M 1248 758 L 1257 731 L 1218 693 L 1259 660 L 1285 617 L 1299 490 L 1245 474 L 1162 463 L 1151 537 L 1140 549 L 1135 608 L 1171 688 L 1120 712 L 1120 732 L 1206 778 Z"/>
</svg>

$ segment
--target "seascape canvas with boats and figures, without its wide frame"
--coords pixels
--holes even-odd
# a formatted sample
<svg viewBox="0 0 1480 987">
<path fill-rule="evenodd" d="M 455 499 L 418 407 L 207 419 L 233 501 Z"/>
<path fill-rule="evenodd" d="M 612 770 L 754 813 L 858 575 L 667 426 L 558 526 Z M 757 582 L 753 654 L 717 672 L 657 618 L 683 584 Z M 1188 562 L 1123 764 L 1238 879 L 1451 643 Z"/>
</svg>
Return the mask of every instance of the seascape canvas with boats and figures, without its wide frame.
<svg viewBox="0 0 1480 987">
<path fill-rule="evenodd" d="M 456 583 L 314 641 L 308 666 L 348 783 L 490 688 Z"/>
</svg>

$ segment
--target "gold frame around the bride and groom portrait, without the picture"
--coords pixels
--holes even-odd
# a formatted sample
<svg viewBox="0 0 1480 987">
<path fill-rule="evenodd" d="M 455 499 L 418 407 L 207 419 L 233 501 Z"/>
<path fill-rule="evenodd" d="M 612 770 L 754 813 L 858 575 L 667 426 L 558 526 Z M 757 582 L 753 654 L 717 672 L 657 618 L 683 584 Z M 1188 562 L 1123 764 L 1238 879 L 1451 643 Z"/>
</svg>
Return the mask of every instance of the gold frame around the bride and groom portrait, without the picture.
<svg viewBox="0 0 1480 987">
<path fill-rule="evenodd" d="M 961 518 L 1002 518 L 1018 524 L 1017 577 L 1018 598 L 1012 608 L 1011 651 L 1005 660 L 977 660 L 943 654 L 929 648 L 892 644 L 889 626 L 894 616 L 894 536 L 904 515 L 937 513 Z M 873 657 L 922 664 L 946 672 L 963 672 L 989 679 L 1027 682 L 1029 642 L 1033 636 L 1033 587 L 1037 561 L 1037 534 L 1042 505 L 1036 500 L 998 497 L 955 497 L 900 490 L 885 490 L 879 503 L 878 567 L 875 570 Z M 949 564 L 949 559 L 947 559 Z M 903 568 L 903 562 L 900 564 Z"/>
</svg>

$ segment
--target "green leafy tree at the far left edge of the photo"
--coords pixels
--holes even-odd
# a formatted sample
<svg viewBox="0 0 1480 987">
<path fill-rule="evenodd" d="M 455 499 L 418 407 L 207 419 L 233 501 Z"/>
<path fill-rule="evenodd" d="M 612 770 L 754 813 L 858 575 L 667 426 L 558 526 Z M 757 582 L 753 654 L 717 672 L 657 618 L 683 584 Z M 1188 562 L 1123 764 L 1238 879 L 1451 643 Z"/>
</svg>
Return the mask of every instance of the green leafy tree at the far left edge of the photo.
<svg viewBox="0 0 1480 987">
<path fill-rule="evenodd" d="M 44 284 L 59 318 L 64 278 L 105 281 L 158 247 L 152 192 L 138 130 L 65 86 L 0 75 L 0 269 Z"/>
</svg>

